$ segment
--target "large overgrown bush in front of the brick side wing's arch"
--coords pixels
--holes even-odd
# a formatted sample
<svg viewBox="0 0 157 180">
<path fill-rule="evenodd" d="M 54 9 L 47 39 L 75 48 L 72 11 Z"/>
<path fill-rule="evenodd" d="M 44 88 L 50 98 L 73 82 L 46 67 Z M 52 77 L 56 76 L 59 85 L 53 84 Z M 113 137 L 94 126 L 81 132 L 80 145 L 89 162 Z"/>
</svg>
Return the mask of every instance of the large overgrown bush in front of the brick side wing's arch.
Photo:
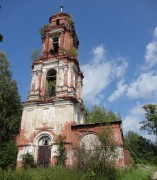
<svg viewBox="0 0 157 180">
<path fill-rule="evenodd" d="M 88 142 L 87 142 L 88 143 Z M 76 168 L 79 171 L 105 179 L 117 179 L 119 171 L 115 168 L 116 144 L 110 127 L 102 128 L 98 141 L 89 147 L 81 144 L 76 148 Z"/>
</svg>

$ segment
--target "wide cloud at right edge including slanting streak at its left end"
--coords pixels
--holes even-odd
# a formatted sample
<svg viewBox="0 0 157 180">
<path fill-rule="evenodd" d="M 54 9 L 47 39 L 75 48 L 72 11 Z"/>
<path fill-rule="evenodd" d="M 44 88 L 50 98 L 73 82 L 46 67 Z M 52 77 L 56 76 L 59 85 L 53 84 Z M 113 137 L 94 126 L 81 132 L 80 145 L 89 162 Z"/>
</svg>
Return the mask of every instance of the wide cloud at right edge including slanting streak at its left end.
<svg viewBox="0 0 157 180">
<path fill-rule="evenodd" d="M 108 101 L 114 102 L 122 95 L 129 99 L 157 100 L 157 74 L 151 71 L 141 73 L 130 84 L 118 82 L 117 89 L 110 95 Z"/>
</svg>

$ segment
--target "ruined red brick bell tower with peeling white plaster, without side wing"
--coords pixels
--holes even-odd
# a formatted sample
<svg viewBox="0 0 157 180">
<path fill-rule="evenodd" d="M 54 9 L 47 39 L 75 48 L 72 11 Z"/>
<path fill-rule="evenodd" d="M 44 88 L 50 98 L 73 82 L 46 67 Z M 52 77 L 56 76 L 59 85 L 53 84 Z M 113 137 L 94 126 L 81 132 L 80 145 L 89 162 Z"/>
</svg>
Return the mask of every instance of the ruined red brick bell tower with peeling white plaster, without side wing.
<svg viewBox="0 0 157 180">
<path fill-rule="evenodd" d="M 21 155 L 34 156 L 39 165 L 55 163 L 56 140 L 66 136 L 67 163 L 72 161 L 72 125 L 83 124 L 83 74 L 77 60 L 79 41 L 71 16 L 61 11 L 49 19 L 42 33 L 42 56 L 32 65 L 32 81 L 23 104 L 21 130 L 17 139 L 18 166 Z"/>
</svg>

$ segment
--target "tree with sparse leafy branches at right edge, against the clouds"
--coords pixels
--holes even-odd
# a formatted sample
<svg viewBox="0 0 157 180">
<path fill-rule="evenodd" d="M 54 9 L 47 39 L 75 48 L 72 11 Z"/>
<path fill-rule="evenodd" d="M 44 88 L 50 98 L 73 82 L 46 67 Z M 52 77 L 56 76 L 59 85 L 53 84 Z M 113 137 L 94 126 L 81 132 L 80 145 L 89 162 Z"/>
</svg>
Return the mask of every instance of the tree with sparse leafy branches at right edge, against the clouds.
<svg viewBox="0 0 157 180">
<path fill-rule="evenodd" d="M 156 146 L 157 146 L 157 105 L 147 104 L 143 106 L 145 110 L 146 120 L 140 122 L 141 130 L 148 131 L 149 134 L 156 136 Z"/>
</svg>

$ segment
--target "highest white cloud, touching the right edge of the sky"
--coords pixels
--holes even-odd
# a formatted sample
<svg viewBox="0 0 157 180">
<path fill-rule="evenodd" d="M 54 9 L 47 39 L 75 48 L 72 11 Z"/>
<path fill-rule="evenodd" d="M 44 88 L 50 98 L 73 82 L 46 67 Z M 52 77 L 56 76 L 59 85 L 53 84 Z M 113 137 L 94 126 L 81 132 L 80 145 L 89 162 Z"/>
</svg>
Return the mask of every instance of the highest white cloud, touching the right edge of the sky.
<svg viewBox="0 0 157 180">
<path fill-rule="evenodd" d="M 145 63 L 142 69 L 147 70 L 157 64 L 157 27 L 154 29 L 153 39 L 146 46 Z"/>
</svg>

